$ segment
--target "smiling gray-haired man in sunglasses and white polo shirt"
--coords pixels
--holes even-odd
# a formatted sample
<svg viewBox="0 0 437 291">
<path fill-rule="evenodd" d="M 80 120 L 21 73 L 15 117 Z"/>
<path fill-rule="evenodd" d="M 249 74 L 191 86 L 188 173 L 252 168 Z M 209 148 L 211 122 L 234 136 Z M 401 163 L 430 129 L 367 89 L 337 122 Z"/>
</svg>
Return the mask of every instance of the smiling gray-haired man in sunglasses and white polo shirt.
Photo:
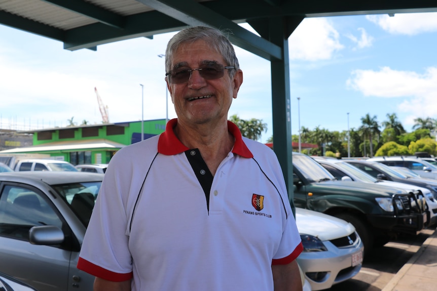
<svg viewBox="0 0 437 291">
<path fill-rule="evenodd" d="M 177 119 L 111 160 L 78 267 L 94 290 L 301 290 L 302 243 L 274 152 L 227 120 L 243 73 L 221 31 L 166 50 Z"/>
</svg>

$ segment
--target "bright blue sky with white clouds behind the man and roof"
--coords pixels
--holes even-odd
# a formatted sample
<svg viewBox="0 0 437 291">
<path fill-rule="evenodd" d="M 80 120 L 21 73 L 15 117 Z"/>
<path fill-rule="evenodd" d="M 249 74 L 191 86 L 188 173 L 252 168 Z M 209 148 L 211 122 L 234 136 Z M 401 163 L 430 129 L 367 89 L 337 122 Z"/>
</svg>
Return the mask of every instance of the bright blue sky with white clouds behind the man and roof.
<svg viewBox="0 0 437 291">
<path fill-rule="evenodd" d="M 71 52 L 0 25 L 0 129 L 64 127 L 71 118 L 101 123 L 94 88 L 110 122 L 175 118 L 159 57 L 173 34 Z M 358 129 L 366 114 L 382 123 L 395 113 L 408 132 L 415 118 L 437 118 L 437 13 L 306 18 L 288 42 L 292 134 L 299 124 Z M 270 62 L 235 49 L 244 80 L 229 116 L 261 119 L 266 142 L 273 135 Z"/>
</svg>

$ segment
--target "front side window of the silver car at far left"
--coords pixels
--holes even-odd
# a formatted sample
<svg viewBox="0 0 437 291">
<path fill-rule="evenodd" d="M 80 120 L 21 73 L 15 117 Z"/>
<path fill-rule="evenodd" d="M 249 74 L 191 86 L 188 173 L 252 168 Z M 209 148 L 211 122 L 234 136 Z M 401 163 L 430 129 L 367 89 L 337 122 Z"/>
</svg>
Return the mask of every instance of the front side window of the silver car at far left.
<svg viewBox="0 0 437 291">
<path fill-rule="evenodd" d="M 62 221 L 42 195 L 26 187 L 6 185 L 0 193 L 0 235 L 28 240 L 33 226 L 62 228 Z"/>
</svg>

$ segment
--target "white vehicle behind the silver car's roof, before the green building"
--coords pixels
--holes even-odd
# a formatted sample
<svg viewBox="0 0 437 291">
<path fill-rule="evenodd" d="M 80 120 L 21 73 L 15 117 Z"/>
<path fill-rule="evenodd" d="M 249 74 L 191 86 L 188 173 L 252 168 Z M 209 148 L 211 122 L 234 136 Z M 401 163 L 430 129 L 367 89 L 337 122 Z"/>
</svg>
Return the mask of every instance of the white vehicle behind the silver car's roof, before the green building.
<svg viewBox="0 0 437 291">
<path fill-rule="evenodd" d="M 22 171 L 69 171 L 78 172 L 74 165 L 67 161 L 55 159 L 22 159 L 15 165 L 16 172 Z"/>
</svg>

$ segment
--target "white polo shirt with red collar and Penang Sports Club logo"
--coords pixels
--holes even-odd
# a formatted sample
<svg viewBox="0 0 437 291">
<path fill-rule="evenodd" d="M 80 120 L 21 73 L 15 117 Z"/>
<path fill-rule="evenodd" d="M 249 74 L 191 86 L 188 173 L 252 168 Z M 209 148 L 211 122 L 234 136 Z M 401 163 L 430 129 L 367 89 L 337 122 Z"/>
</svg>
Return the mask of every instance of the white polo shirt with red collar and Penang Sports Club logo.
<svg viewBox="0 0 437 291">
<path fill-rule="evenodd" d="M 235 137 L 211 175 L 197 149 L 166 131 L 112 158 L 78 268 L 132 290 L 273 290 L 272 264 L 302 252 L 273 150 Z"/>
</svg>

